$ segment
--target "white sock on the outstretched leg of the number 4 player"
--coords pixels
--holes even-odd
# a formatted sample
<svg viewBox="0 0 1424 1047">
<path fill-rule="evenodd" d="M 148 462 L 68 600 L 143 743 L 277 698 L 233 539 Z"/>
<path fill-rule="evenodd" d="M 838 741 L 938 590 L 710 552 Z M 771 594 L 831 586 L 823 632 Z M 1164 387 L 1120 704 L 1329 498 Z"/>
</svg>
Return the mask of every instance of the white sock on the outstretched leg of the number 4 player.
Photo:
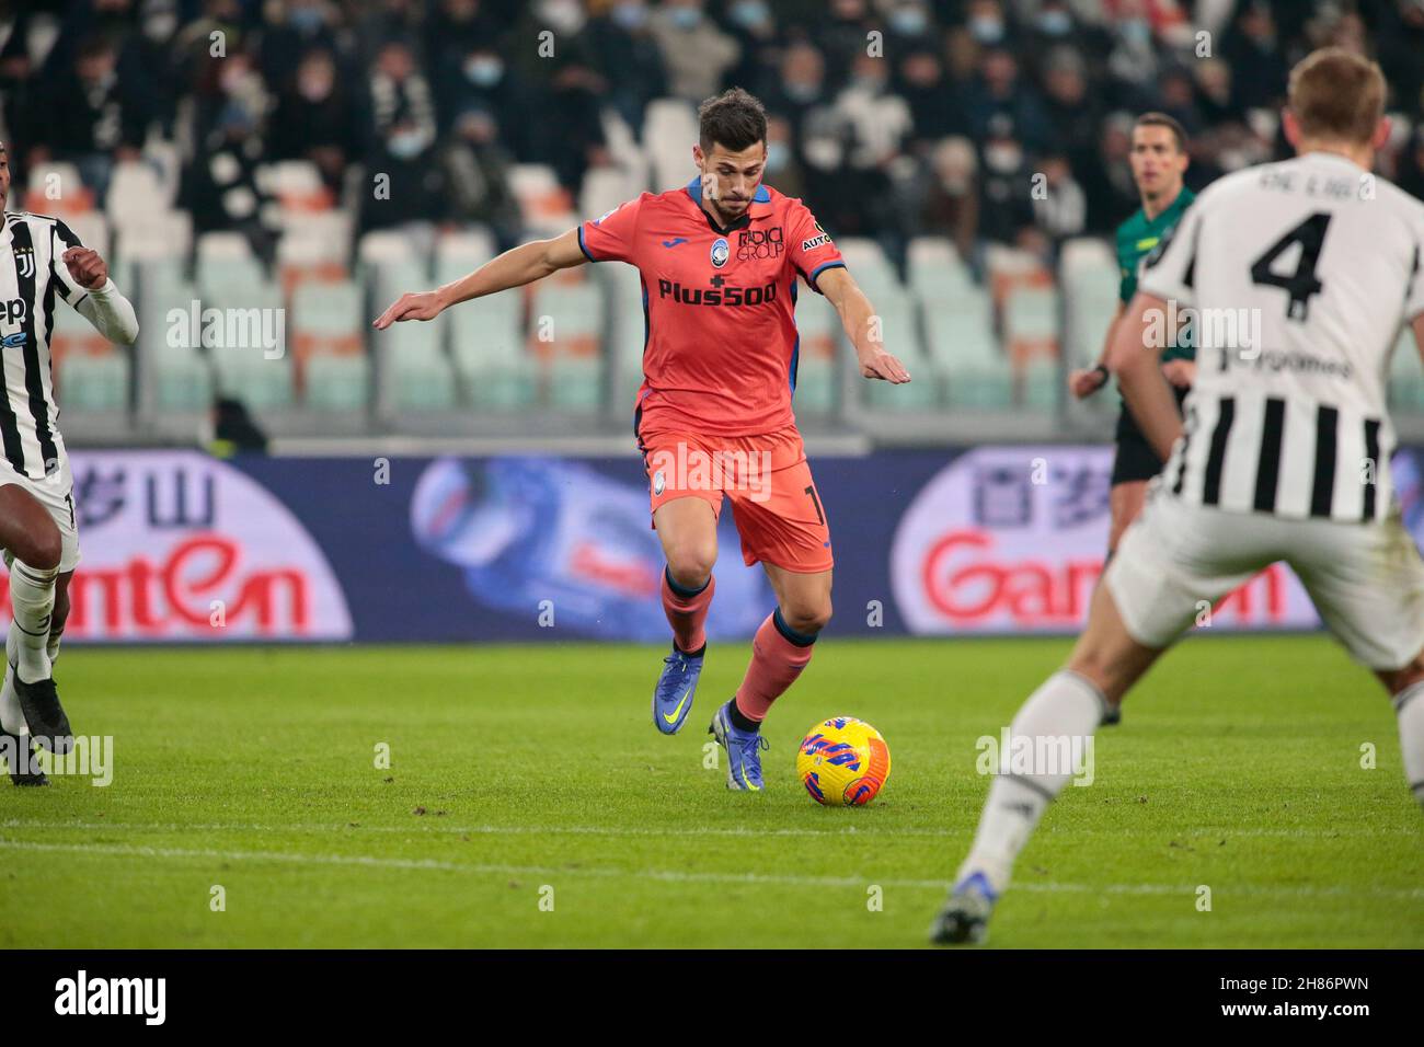
<svg viewBox="0 0 1424 1047">
<path fill-rule="evenodd" d="M 1092 736 L 1106 709 L 1108 699 L 1092 682 L 1061 670 L 1028 697 L 1010 725 L 1010 735 L 1034 739 L 1035 752 L 1040 751 L 1040 738 L 1068 739 L 1075 752 L 1082 752 L 1085 739 Z M 1028 843 L 1048 803 L 1074 776 L 1071 766 L 1032 766 L 1024 772 L 1012 765 L 1012 752 L 1000 756 L 1001 772 L 988 788 L 974 845 L 956 875 L 958 882 L 981 872 L 995 893 L 1008 886 L 1014 859 Z M 1004 766 L 1005 761 L 1008 766 Z"/>
</svg>

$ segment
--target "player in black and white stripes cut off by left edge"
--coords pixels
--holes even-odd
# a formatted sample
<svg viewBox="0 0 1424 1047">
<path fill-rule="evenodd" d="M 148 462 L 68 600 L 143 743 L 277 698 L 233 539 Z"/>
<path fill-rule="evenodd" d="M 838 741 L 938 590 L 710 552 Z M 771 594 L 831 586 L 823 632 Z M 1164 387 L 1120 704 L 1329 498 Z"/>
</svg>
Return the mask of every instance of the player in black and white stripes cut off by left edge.
<svg viewBox="0 0 1424 1047">
<path fill-rule="evenodd" d="M 10 198 L 10 161 L 0 142 L 0 207 Z M 0 756 L 16 785 L 47 785 L 33 766 L 31 739 L 50 752 L 73 745 L 54 688 L 68 584 L 80 558 L 74 480 L 57 426 L 50 373 L 56 298 L 111 342 L 138 338 L 138 319 L 108 266 L 57 218 L 4 211 L 0 231 L 0 546 L 10 568 L 14 621 L 6 635 L 0 688 Z"/>
</svg>

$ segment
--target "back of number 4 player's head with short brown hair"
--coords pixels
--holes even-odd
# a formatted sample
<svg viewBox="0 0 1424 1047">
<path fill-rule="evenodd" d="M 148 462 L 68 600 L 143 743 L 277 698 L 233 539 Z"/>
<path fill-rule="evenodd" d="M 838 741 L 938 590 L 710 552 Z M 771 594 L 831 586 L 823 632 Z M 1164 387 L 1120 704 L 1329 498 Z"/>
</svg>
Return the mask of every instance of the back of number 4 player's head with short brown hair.
<svg viewBox="0 0 1424 1047">
<path fill-rule="evenodd" d="M 1290 70 L 1289 101 L 1307 138 L 1367 142 L 1384 115 L 1384 74 L 1353 51 L 1321 47 Z"/>
</svg>

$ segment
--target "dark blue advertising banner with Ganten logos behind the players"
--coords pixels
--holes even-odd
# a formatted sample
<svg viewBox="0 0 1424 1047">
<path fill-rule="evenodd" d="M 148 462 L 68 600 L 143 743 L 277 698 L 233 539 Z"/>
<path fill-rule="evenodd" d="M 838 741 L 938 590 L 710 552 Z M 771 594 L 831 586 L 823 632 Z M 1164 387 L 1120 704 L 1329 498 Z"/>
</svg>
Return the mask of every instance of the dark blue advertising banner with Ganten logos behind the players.
<svg viewBox="0 0 1424 1047">
<path fill-rule="evenodd" d="M 1421 453 L 1394 459 L 1424 536 Z M 832 634 L 1072 632 L 1102 570 L 1111 449 L 984 446 L 815 457 L 834 537 Z M 637 457 L 216 460 L 77 452 L 78 642 L 664 642 L 662 550 Z M 718 530 L 708 631 L 749 637 L 773 605 Z M 9 585 L 0 578 L 0 614 Z M 1215 628 L 1313 628 L 1289 568 Z"/>
</svg>

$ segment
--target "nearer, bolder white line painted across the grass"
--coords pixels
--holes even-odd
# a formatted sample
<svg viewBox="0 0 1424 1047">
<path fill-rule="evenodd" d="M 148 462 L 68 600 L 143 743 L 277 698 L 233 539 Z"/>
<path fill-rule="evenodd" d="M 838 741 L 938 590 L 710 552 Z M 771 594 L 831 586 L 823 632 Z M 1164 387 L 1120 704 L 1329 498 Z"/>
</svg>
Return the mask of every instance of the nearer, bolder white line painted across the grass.
<svg viewBox="0 0 1424 1047">
<path fill-rule="evenodd" d="M 279 850 L 211 850 L 189 848 L 148 848 L 127 843 L 36 843 L 31 840 L 0 839 L 0 850 L 37 850 L 74 855 L 111 855 L 117 858 L 177 858 L 219 862 L 279 862 L 285 865 L 335 865 L 360 866 L 367 869 L 423 869 L 497 876 L 595 876 L 602 879 L 642 879 L 666 883 L 775 883 L 796 887 L 864 887 L 879 883 L 889 887 L 924 887 L 944 890 L 948 880 L 900 880 L 866 876 L 787 876 L 783 873 L 716 873 L 681 872 L 676 869 L 609 869 L 600 866 L 540 866 L 540 865 L 484 865 L 466 862 L 441 862 L 430 858 L 376 858 L 372 855 L 296 855 Z M 1051 883 L 1028 882 L 1015 885 L 1015 890 L 1034 893 L 1098 893 L 1098 895 L 1195 895 L 1195 886 L 1172 886 L 1168 883 Z M 1312 887 L 1306 885 L 1286 886 L 1222 886 L 1219 895 L 1266 895 L 1282 897 L 1326 897 L 1326 896 L 1370 896 L 1391 899 L 1424 899 L 1424 887 L 1413 890 L 1357 889 L 1357 887 Z"/>
</svg>

